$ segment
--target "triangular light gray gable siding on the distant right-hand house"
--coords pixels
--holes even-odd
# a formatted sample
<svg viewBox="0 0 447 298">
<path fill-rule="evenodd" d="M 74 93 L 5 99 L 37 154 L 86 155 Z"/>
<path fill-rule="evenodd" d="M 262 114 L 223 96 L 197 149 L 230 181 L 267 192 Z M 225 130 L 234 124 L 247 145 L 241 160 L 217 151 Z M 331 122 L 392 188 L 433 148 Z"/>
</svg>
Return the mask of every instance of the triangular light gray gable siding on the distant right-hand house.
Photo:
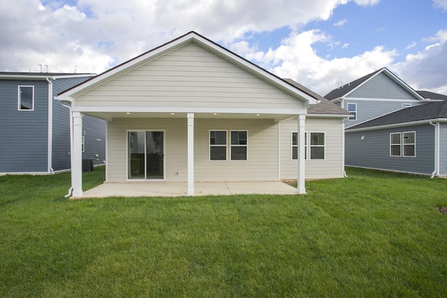
<svg viewBox="0 0 447 298">
<path fill-rule="evenodd" d="M 379 73 L 346 98 L 417 99 L 384 73 Z"/>
</svg>

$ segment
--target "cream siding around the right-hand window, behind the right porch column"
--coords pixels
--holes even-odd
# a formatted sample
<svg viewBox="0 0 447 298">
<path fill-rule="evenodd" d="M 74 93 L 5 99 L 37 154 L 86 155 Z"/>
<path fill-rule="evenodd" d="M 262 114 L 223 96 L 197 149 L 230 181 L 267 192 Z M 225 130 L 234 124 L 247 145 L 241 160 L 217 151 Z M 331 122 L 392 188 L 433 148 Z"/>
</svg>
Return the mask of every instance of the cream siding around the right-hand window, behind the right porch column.
<svg viewBox="0 0 447 298">
<path fill-rule="evenodd" d="M 292 159 L 291 135 L 297 131 L 298 120 L 291 119 L 281 122 L 280 125 L 281 179 L 296 179 L 298 177 L 298 161 Z M 324 132 L 325 135 L 325 160 L 309 160 L 309 155 L 307 155 L 306 179 L 343 177 L 342 140 L 344 132 L 342 130 L 342 119 L 307 117 L 305 126 L 306 135 L 310 132 Z"/>
</svg>

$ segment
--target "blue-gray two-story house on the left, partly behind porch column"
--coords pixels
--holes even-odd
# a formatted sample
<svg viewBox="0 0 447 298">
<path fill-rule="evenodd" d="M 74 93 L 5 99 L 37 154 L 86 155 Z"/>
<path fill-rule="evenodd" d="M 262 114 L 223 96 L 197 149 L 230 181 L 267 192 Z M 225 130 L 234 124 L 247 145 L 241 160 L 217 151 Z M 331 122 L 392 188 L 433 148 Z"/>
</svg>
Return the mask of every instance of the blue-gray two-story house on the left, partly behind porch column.
<svg viewBox="0 0 447 298">
<path fill-rule="evenodd" d="M 54 96 L 94 76 L 0 72 L 0 174 L 70 169 L 70 110 Z M 85 116 L 82 134 L 82 158 L 104 163 L 105 121 Z"/>
</svg>

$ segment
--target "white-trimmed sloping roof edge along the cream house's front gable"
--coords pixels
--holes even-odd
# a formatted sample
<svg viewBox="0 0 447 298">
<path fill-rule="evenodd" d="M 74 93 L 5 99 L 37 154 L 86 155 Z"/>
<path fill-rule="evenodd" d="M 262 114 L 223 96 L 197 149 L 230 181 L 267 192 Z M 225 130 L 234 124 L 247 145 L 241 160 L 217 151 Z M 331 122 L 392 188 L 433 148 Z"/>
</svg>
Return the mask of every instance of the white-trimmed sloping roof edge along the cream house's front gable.
<svg viewBox="0 0 447 298">
<path fill-rule="evenodd" d="M 115 66 L 114 68 L 111 68 L 110 70 L 101 73 L 97 77 L 93 77 L 90 80 L 87 80 L 81 84 L 78 84 L 75 87 L 72 87 L 71 89 L 67 89 L 66 91 L 59 94 L 59 96 L 57 96 L 57 99 L 70 101 L 71 98 L 74 98 L 91 89 L 94 89 L 95 87 L 105 82 L 113 80 L 115 77 L 119 77 L 124 73 L 128 73 L 129 71 L 138 68 L 139 66 L 146 64 L 149 61 L 152 61 L 158 57 L 163 56 L 163 54 L 172 52 L 178 49 L 179 47 L 182 47 L 189 43 L 196 43 L 197 45 L 200 45 L 201 47 L 210 50 L 214 54 L 219 55 L 219 57 L 222 57 L 223 59 L 230 61 L 231 63 L 239 66 L 240 68 L 244 68 L 244 70 L 249 71 L 250 73 L 260 77 L 266 82 L 269 82 L 270 84 L 278 87 L 279 89 L 286 91 L 288 94 L 291 94 L 295 98 L 299 98 L 300 100 L 304 101 L 307 104 L 314 105 L 318 102 L 318 100 L 314 98 L 314 96 L 312 96 L 311 94 L 301 89 L 293 87 L 291 84 L 288 84 L 280 77 L 277 77 L 276 75 L 268 72 L 267 70 L 257 66 L 256 64 L 251 63 L 247 59 L 240 57 L 234 52 L 227 50 L 225 47 L 221 47 L 221 45 L 214 43 L 212 40 L 209 40 L 194 31 L 186 33 L 184 36 L 180 36 L 179 38 L 171 40 L 170 42 L 165 43 L 164 45 L 161 45 L 159 47 L 156 47 L 153 50 L 149 50 L 149 52 L 140 54 L 140 56 L 135 57 L 129 61 L 126 61 L 123 64 L 119 64 L 118 66 Z"/>
</svg>

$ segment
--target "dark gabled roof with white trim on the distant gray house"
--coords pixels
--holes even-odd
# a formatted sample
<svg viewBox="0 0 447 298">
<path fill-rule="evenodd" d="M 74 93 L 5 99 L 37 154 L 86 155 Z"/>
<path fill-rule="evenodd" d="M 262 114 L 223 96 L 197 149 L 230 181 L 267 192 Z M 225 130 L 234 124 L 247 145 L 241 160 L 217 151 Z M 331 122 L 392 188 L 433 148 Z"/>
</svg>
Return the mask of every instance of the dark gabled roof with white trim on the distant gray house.
<svg viewBox="0 0 447 298">
<path fill-rule="evenodd" d="M 376 70 L 373 73 L 369 73 L 368 75 L 365 75 L 363 77 L 360 77 L 360 79 L 354 80 L 353 82 L 344 84 L 342 87 L 339 87 L 337 89 L 330 91 L 324 97 L 327 98 L 328 100 L 336 100 L 338 98 L 345 98 L 346 96 L 351 94 L 353 91 L 356 91 L 356 89 L 360 88 L 363 84 L 366 84 L 369 80 L 372 80 L 373 77 L 376 77 L 376 75 L 379 75 L 379 73 L 384 73 L 385 75 L 388 75 L 388 77 L 390 77 L 391 80 L 395 81 L 402 88 L 406 89 L 406 91 L 408 91 L 410 94 L 412 94 L 419 100 L 424 99 L 423 96 L 420 96 L 420 94 L 418 94 L 418 92 L 414 91 L 413 88 L 409 87 L 409 85 L 406 84 L 406 82 L 400 80 L 400 78 L 397 77 L 397 75 L 392 73 L 386 67 Z"/>
</svg>

